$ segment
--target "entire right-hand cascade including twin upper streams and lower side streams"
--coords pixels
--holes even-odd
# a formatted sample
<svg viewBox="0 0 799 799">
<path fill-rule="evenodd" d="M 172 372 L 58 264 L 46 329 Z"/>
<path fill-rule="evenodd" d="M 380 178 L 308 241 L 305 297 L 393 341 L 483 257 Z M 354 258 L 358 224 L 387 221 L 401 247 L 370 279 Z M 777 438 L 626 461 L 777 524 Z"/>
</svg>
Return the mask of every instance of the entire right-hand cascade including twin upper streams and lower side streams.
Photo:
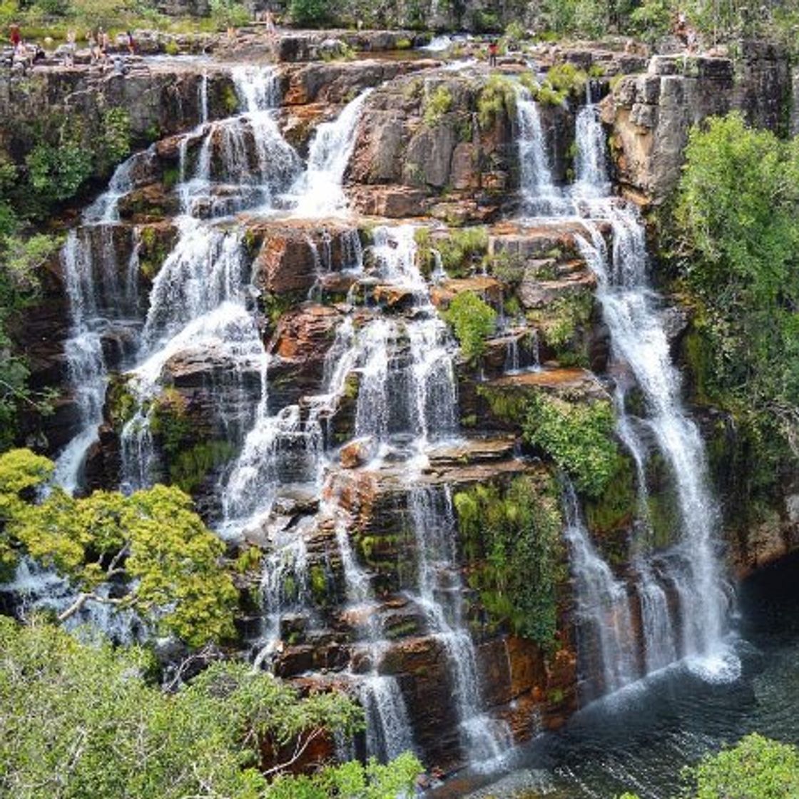
<svg viewBox="0 0 799 799">
<path fill-rule="evenodd" d="M 520 119 L 527 118 L 526 127 L 520 123 L 525 211 L 583 218 L 586 237 L 580 238 L 578 244 L 598 278 L 597 296 L 610 329 L 613 357 L 630 368 L 646 400 L 647 418 L 634 419 L 624 412 L 624 389 L 617 389 L 619 435 L 630 448 L 642 481 L 642 507 L 646 505 L 642 434 L 649 431 L 670 465 L 682 518 L 681 539 L 670 551 L 658 555 L 641 547 L 644 551 L 638 554 L 635 564 L 638 576 L 634 592 L 628 592 L 613 577 L 590 546 L 582 526 L 570 524 L 567 537 L 572 549 L 578 614 L 594 613 L 604 690 L 616 690 L 677 658 L 687 658 L 689 666 L 710 678 L 734 677 L 737 661 L 723 645 L 728 598 L 715 551 L 718 520 L 707 485 L 702 439 L 682 410 L 679 375 L 671 364 L 657 297 L 648 281 L 642 222 L 630 205 L 610 197 L 605 137 L 597 109 L 590 101 L 580 109 L 576 122 L 576 177 L 570 191 L 562 192 L 567 205 L 550 202 L 552 192 L 547 176 L 551 173 L 539 166 L 543 139 L 524 98 L 519 101 L 519 114 Z M 538 141 L 530 141 L 531 137 Z M 542 202 L 537 201 L 539 192 L 543 194 Z M 610 223 L 610 252 L 600 233 L 600 220 Z M 566 507 L 570 507 L 570 502 L 566 501 Z M 641 527 L 647 526 L 643 519 Z M 667 586 L 678 595 L 677 619 L 672 618 Z M 630 654 L 630 644 L 618 639 L 618 634 L 629 626 L 623 621 L 617 624 L 625 614 L 630 617 L 628 594 L 638 597 L 642 619 L 640 666 Z M 614 608 L 604 625 L 595 616 L 597 612 L 607 616 L 602 607 Z M 680 641 L 676 640 L 678 630 Z"/>
</svg>

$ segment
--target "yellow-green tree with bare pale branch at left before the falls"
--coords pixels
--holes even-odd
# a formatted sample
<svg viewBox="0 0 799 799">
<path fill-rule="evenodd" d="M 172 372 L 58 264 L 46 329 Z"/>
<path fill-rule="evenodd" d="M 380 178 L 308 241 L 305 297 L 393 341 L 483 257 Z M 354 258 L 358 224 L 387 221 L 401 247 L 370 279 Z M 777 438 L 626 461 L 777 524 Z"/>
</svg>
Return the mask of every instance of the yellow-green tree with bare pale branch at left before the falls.
<svg viewBox="0 0 799 799">
<path fill-rule="evenodd" d="M 20 553 L 65 574 L 79 591 L 59 617 L 86 602 L 133 608 L 162 633 L 191 646 L 233 635 L 237 590 L 222 567 L 225 545 L 177 487 L 130 496 L 95 491 L 75 499 L 54 488 L 42 502 L 26 499 L 46 483 L 53 464 L 27 450 L 0 456 L 0 558 Z M 122 596 L 100 590 L 111 582 Z"/>
</svg>

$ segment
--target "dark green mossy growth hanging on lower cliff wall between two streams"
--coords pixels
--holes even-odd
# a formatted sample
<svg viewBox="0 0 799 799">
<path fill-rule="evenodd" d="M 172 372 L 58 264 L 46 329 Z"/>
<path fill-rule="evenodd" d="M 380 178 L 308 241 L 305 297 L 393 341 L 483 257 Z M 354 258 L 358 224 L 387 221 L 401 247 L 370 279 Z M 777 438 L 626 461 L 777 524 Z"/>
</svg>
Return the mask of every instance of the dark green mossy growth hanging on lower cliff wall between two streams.
<svg viewBox="0 0 799 799">
<path fill-rule="evenodd" d="M 567 577 L 558 492 L 548 475 L 480 484 L 453 497 L 469 583 L 491 622 L 549 648 Z"/>
</svg>

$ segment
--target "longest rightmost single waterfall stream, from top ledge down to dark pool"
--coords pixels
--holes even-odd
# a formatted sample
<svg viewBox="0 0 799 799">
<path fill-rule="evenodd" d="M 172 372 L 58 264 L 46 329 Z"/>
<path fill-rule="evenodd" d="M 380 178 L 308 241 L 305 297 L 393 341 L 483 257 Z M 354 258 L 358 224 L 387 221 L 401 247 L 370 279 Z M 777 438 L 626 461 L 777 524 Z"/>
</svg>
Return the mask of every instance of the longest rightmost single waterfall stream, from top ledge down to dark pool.
<svg viewBox="0 0 799 799">
<path fill-rule="evenodd" d="M 608 196 L 605 141 L 591 104 L 578 115 L 577 135 L 572 196 L 578 204 L 584 201 L 584 213 L 590 215 L 585 221 L 588 235 L 578 245 L 598 279 L 597 296 L 610 329 L 613 357 L 627 364 L 646 401 L 647 418 L 630 419 L 619 389 L 620 435 L 634 456 L 639 479 L 644 476 L 643 455 L 635 427 L 642 424 L 654 436 L 670 466 L 681 517 L 681 539 L 660 559 L 658 569 L 646 560 L 638 569 L 646 672 L 682 657 L 707 678 L 734 678 L 740 664 L 723 643 L 729 599 L 716 553 L 718 510 L 708 483 L 702 437 L 683 410 L 680 375 L 671 363 L 658 297 L 650 288 L 644 226 L 631 205 Z M 596 218 L 610 221 L 610 252 Z M 646 491 L 645 480 L 641 490 Z M 670 617 L 659 571 L 677 586 L 677 625 Z M 675 626 L 682 630 L 679 646 Z"/>
</svg>

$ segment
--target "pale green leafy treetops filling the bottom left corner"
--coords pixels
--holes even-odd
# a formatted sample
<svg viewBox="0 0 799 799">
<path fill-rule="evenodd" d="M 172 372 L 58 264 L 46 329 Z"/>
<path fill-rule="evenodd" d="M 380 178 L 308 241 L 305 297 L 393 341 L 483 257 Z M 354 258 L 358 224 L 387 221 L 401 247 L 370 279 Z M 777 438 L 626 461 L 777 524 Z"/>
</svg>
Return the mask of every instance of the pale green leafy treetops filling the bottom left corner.
<svg viewBox="0 0 799 799">
<path fill-rule="evenodd" d="M 317 763 L 312 777 L 292 777 L 315 742 L 362 727 L 360 708 L 336 693 L 300 698 L 236 663 L 167 694 L 148 682 L 151 666 L 138 648 L 86 646 L 41 622 L 0 618 L 0 794 L 393 799 L 419 773 L 405 755 L 388 766 Z"/>
</svg>

